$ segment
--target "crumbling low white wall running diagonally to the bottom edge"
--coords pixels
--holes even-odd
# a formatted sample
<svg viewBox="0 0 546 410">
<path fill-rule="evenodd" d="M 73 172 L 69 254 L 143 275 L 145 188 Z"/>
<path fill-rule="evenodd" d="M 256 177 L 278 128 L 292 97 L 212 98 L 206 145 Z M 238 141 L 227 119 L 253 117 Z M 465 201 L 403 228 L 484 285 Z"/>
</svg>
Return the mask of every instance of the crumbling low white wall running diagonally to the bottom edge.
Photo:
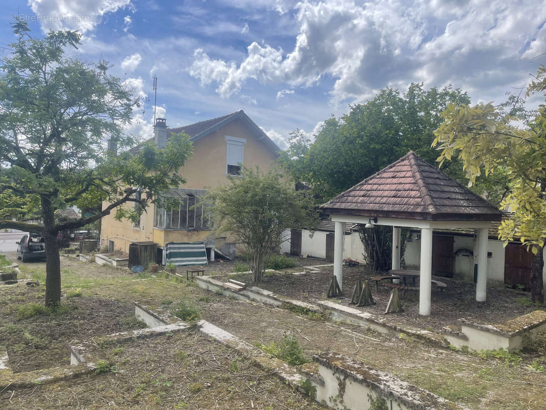
<svg viewBox="0 0 546 410">
<path fill-rule="evenodd" d="M 151 323 L 154 320 L 159 322 L 173 320 L 172 315 L 165 314 L 164 311 L 153 311 L 136 302 L 135 307 L 139 308 L 139 318 L 148 315 L 149 318 L 145 320 Z M 406 383 L 393 374 L 376 370 L 339 353 L 315 355 L 312 364 L 295 367 L 282 360 L 271 358 L 263 350 L 253 347 L 206 320 L 198 322 L 198 330 L 205 336 L 238 350 L 255 365 L 276 373 L 296 390 L 310 395 L 314 400 L 329 408 L 373 410 L 384 408 L 378 407 L 383 404 L 388 406 L 387 408 L 399 410 L 465 409 L 429 391 Z"/>
</svg>

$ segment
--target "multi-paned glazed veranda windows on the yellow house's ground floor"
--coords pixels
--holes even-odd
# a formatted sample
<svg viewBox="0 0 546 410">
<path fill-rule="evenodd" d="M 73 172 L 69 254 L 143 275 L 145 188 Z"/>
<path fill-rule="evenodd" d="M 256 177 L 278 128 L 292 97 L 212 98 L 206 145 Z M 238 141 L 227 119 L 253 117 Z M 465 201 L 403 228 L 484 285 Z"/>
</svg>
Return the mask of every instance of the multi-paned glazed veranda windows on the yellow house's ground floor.
<svg viewBox="0 0 546 410">
<path fill-rule="evenodd" d="M 173 208 L 156 207 L 153 218 L 153 226 L 161 229 L 210 229 L 212 225 L 210 212 L 193 194 L 186 194 Z"/>
</svg>

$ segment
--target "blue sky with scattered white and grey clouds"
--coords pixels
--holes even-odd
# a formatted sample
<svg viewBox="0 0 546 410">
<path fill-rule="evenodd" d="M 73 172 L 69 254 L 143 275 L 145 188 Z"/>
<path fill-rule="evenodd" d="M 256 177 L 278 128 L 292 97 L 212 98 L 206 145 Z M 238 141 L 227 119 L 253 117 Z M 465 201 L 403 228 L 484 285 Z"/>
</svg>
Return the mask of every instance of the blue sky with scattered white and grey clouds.
<svg viewBox="0 0 546 410">
<path fill-rule="evenodd" d="M 386 86 L 452 83 L 473 102 L 501 102 L 546 63 L 546 2 L 536 0 L 3 3 L 2 46 L 14 41 L 10 14 L 26 16 L 35 35 L 82 32 L 70 53 L 105 58 L 143 97 L 127 126 L 143 137 L 151 134 L 153 74 L 158 116 L 169 126 L 244 109 L 284 147 L 295 128 L 312 136 L 322 120 Z"/>
</svg>

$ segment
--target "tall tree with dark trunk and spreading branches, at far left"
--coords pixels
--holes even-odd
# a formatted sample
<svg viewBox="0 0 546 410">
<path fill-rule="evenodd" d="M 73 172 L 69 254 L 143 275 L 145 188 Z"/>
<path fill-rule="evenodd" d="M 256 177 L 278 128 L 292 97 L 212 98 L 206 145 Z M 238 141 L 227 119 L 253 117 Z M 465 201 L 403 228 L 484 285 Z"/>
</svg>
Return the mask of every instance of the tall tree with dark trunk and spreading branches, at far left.
<svg viewBox="0 0 546 410">
<path fill-rule="evenodd" d="M 139 218 L 148 204 L 161 201 L 158 193 L 183 183 L 177 171 L 191 144 L 179 134 L 163 150 L 152 144 L 133 156 L 106 150 L 105 138 L 120 149 L 133 144 L 122 127 L 138 101 L 108 74 L 106 62 L 66 57 L 66 50 L 77 48 L 78 33 L 50 31 L 36 39 L 25 22 L 16 22 L 14 32 L 18 40 L 0 66 L 0 228 L 41 232 L 50 306 L 61 298 L 57 233 L 113 210 L 116 218 Z M 76 203 L 85 208 L 97 199 L 107 204 L 96 215 L 56 221 L 55 210 Z M 22 221 L 36 212 L 43 225 Z"/>
</svg>

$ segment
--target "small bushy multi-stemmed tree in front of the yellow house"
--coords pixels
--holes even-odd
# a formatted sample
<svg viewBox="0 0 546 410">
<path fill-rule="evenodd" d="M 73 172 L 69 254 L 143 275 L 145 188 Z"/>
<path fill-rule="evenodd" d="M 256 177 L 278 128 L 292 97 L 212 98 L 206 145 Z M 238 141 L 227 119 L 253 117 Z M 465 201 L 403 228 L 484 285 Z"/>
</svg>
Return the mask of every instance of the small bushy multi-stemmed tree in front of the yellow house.
<svg viewBox="0 0 546 410">
<path fill-rule="evenodd" d="M 244 168 L 243 178 L 230 178 L 230 185 L 219 186 L 205 197 L 213 204 L 215 230 L 239 239 L 251 253 L 254 282 L 262 282 L 264 259 L 278 251 L 287 229 L 313 229 L 317 212 L 306 192 L 295 191 L 283 175 L 271 168 Z"/>
</svg>

